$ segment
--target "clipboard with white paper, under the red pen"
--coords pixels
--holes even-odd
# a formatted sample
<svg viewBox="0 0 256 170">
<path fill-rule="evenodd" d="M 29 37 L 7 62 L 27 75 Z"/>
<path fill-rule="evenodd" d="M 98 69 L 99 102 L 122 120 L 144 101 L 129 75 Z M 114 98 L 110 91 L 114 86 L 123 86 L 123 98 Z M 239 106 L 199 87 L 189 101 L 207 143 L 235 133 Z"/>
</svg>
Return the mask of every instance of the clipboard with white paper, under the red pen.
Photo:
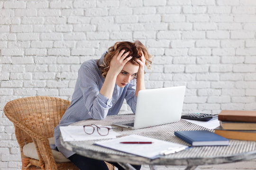
<svg viewBox="0 0 256 170">
<path fill-rule="evenodd" d="M 128 142 L 133 144 L 124 144 Z M 151 144 L 141 144 L 145 142 Z M 129 135 L 116 139 L 97 141 L 94 144 L 125 153 L 135 154 L 149 159 L 159 158 L 165 154 L 176 153 L 189 148 L 189 146 L 183 144 L 176 144 L 173 142 L 139 135 Z"/>
</svg>

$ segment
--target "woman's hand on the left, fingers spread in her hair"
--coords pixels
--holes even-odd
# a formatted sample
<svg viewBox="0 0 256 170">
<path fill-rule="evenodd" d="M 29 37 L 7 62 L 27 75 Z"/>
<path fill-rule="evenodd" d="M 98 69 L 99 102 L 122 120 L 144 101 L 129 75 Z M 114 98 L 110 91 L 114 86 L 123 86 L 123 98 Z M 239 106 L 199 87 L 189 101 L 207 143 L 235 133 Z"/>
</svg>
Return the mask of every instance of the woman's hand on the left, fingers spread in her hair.
<svg viewBox="0 0 256 170">
<path fill-rule="evenodd" d="M 130 56 L 127 59 L 125 59 L 130 52 L 129 51 L 126 53 L 124 52 L 125 50 L 122 50 L 113 56 L 113 58 L 110 61 L 110 69 L 108 73 L 111 73 L 117 76 L 124 68 L 124 65 L 132 58 L 132 56 Z"/>
</svg>

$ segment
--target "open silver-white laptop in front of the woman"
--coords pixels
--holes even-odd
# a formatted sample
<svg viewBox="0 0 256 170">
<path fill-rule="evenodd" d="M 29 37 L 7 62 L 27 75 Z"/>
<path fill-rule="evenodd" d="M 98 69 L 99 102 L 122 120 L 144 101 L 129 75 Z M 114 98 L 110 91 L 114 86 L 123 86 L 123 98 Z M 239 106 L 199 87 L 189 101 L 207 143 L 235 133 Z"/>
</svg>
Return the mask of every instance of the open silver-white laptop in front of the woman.
<svg viewBox="0 0 256 170">
<path fill-rule="evenodd" d="M 181 119 L 185 90 L 186 86 L 140 90 L 135 119 L 113 125 L 138 129 L 177 122 Z"/>
</svg>

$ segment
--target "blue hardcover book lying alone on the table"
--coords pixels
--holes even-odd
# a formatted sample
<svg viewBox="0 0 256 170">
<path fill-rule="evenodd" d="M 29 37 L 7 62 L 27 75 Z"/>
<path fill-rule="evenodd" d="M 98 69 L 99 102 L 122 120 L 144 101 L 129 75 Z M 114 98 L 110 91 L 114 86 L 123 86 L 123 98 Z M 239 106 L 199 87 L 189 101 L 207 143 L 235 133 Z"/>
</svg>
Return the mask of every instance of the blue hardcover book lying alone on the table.
<svg viewBox="0 0 256 170">
<path fill-rule="evenodd" d="M 183 139 L 192 146 L 229 145 L 229 139 L 208 130 L 175 131 L 174 135 Z"/>
</svg>

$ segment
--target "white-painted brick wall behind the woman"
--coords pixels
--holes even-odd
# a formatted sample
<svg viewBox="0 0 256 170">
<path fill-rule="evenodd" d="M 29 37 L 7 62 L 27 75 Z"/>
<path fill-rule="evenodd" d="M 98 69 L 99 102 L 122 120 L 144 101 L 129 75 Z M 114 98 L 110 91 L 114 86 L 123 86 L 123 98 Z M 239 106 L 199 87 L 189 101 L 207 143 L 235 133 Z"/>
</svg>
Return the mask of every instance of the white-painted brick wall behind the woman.
<svg viewBox="0 0 256 170">
<path fill-rule="evenodd" d="M 0 0 L 0 170 L 21 167 L 6 102 L 35 95 L 71 100 L 83 61 L 137 39 L 155 56 L 146 87 L 186 85 L 183 112 L 256 110 L 255 0 Z M 130 109 L 124 104 L 120 112 Z"/>
</svg>

